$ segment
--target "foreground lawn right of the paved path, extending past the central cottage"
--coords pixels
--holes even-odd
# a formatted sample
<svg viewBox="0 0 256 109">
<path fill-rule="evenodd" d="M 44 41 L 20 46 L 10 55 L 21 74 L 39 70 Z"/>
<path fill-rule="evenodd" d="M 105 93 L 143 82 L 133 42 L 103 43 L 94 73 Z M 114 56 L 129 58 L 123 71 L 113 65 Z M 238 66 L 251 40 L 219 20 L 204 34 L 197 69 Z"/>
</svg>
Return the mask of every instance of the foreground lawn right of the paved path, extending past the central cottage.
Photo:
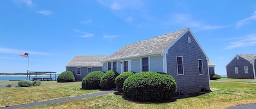
<svg viewBox="0 0 256 109">
<path fill-rule="evenodd" d="M 235 82 L 234 82 L 235 81 Z M 106 94 L 98 97 L 57 102 L 26 108 L 227 108 L 256 103 L 256 85 L 232 81 L 211 81 L 212 92 L 190 98 L 165 102 L 138 102 L 123 99 L 121 95 Z M 247 80 L 246 80 L 247 81 Z M 253 80 L 250 80 L 251 82 Z"/>
</svg>

